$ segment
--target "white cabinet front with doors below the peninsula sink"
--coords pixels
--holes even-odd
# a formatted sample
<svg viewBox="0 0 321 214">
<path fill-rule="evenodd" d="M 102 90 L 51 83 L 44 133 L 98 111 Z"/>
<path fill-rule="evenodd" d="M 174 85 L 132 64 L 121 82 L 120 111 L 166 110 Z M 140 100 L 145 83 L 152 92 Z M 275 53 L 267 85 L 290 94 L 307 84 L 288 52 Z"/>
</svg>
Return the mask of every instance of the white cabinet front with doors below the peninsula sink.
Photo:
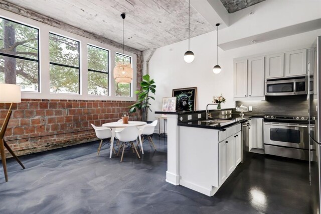
<svg viewBox="0 0 321 214">
<path fill-rule="evenodd" d="M 242 160 L 242 132 L 219 142 L 219 185 L 221 186 Z"/>
</svg>

